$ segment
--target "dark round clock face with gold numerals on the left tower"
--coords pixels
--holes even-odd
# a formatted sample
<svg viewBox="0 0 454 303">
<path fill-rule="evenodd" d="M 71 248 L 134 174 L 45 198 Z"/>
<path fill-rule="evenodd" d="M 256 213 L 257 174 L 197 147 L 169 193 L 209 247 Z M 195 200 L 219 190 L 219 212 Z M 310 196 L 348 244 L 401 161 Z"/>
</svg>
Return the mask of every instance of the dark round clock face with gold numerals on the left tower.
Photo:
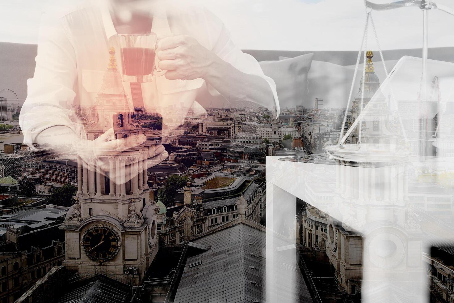
<svg viewBox="0 0 454 303">
<path fill-rule="evenodd" d="M 97 224 L 85 231 L 82 236 L 82 248 L 93 261 L 108 261 L 118 254 L 120 238 L 114 228 Z"/>
</svg>

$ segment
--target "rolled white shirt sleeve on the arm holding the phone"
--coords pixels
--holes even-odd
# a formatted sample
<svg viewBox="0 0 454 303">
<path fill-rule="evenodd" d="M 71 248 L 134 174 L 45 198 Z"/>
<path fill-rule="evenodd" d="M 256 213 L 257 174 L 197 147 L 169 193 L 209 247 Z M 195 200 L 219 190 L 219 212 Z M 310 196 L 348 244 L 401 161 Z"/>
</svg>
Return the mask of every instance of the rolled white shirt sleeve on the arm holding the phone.
<svg viewBox="0 0 454 303">
<path fill-rule="evenodd" d="M 24 143 L 31 149 L 44 129 L 62 125 L 75 132 L 68 104 L 75 97 L 76 59 L 60 18 L 42 15 L 35 61 L 35 74 L 27 80 L 27 99 L 19 117 Z"/>
</svg>

